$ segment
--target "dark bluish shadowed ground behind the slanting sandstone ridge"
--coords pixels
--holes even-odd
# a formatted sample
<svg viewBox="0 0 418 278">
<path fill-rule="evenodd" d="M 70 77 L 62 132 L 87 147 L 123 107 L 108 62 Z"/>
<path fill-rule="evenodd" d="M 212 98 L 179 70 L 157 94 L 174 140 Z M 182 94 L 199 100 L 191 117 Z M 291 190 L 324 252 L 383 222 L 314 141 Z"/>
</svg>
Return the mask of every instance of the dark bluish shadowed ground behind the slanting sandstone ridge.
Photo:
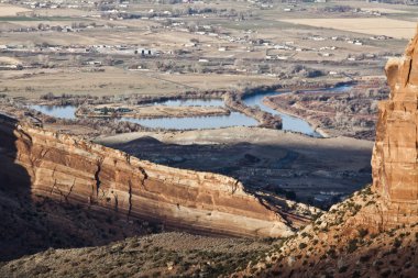
<svg viewBox="0 0 418 278">
<path fill-rule="evenodd" d="M 239 179 L 249 191 L 266 190 L 328 209 L 372 181 L 372 148 L 337 144 L 172 144 L 151 136 L 105 144 L 140 159 Z"/>
</svg>

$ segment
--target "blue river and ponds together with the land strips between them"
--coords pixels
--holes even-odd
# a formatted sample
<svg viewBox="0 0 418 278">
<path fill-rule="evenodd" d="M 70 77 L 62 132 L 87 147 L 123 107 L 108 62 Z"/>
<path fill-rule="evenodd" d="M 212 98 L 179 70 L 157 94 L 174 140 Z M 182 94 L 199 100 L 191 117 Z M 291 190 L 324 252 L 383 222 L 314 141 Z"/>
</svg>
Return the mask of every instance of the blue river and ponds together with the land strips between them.
<svg viewBox="0 0 418 278">
<path fill-rule="evenodd" d="M 263 98 L 265 94 L 278 96 L 289 90 L 339 90 L 341 87 L 348 87 L 352 84 L 352 81 L 341 80 L 309 82 L 304 84 L 304 87 L 300 87 L 299 84 L 276 84 L 274 86 L 257 86 L 242 91 L 187 91 L 169 97 L 130 94 L 118 98 L 118 101 L 114 97 L 78 96 L 72 98 L 72 94 L 61 97 L 48 94 L 36 101 L 38 105 L 32 105 L 32 108 L 53 118 L 66 119 L 63 121 L 47 118 L 48 122 L 87 123 L 94 124 L 96 130 L 101 121 L 106 121 L 108 126 L 122 126 L 122 129 L 118 127 L 118 133 L 121 130 L 128 132 L 138 130 L 200 130 L 244 125 L 274 130 L 283 129 L 309 136 L 328 137 L 332 134 L 319 125 L 314 124 L 312 127 L 310 119 L 294 116 L 295 113 L 277 112 L 270 105 L 265 105 Z M 41 119 L 43 118 L 43 115 L 36 114 L 37 112 L 32 113 Z M 124 123 L 120 124 L 120 122 Z M 103 130 L 103 127 L 99 130 Z"/>
</svg>

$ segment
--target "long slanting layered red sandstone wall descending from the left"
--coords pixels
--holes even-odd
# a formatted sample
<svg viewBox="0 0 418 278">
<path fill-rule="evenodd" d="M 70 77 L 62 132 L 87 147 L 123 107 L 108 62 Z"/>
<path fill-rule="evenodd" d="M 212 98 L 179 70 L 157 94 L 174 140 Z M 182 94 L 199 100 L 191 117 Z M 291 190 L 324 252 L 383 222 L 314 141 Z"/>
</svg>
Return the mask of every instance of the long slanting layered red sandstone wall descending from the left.
<svg viewBox="0 0 418 278">
<path fill-rule="evenodd" d="M 9 142 L 1 143 L 1 149 L 15 149 L 2 152 L 1 159 L 14 160 L 26 170 L 32 196 L 114 210 L 129 218 L 200 233 L 293 234 L 287 220 L 245 192 L 233 178 L 152 164 L 7 118 L 0 119 L 0 140 Z"/>
</svg>

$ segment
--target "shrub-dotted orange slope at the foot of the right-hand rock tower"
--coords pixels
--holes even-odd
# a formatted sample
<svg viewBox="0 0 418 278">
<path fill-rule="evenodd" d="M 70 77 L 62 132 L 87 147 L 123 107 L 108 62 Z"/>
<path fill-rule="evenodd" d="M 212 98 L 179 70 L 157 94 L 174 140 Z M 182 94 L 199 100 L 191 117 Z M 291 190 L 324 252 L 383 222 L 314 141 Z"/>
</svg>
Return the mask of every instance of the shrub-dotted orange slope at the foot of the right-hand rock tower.
<svg viewBox="0 0 418 278">
<path fill-rule="evenodd" d="M 373 232 L 355 221 L 381 198 L 370 187 L 356 192 L 234 276 L 417 277 L 417 223 Z"/>
</svg>

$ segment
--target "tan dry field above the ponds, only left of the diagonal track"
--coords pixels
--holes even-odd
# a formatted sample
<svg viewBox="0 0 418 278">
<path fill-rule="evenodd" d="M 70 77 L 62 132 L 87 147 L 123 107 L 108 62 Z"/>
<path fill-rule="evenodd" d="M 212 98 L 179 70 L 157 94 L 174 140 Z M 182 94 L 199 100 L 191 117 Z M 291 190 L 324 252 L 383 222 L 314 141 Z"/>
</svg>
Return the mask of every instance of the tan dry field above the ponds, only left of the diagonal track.
<svg viewBox="0 0 418 278">
<path fill-rule="evenodd" d="M 79 68 L 2 73 L 1 87 L 15 97 L 38 98 L 56 94 L 113 96 L 122 93 L 172 94 L 184 86 L 150 77 L 140 71 L 106 67 L 105 73 L 82 73 Z"/>
</svg>

